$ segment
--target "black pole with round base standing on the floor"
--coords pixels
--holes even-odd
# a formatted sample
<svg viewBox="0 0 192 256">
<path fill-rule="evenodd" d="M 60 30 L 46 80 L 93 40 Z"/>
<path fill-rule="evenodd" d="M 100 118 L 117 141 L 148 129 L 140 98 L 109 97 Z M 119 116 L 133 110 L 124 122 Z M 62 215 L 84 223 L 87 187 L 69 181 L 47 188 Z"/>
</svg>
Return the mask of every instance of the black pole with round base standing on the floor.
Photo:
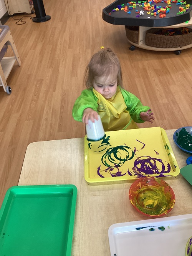
<svg viewBox="0 0 192 256">
<path fill-rule="evenodd" d="M 33 22 L 46 22 L 51 19 L 49 15 L 46 15 L 43 0 L 33 0 L 33 7 L 35 10 L 35 18 L 32 18 Z"/>
</svg>

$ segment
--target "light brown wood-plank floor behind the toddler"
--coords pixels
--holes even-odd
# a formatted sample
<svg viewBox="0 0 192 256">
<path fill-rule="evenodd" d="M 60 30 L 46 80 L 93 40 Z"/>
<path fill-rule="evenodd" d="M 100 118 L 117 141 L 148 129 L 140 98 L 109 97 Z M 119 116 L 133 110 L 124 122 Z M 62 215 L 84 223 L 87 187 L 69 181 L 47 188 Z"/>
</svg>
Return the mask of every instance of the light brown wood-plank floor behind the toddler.
<svg viewBox="0 0 192 256">
<path fill-rule="evenodd" d="M 26 24 L 18 26 L 9 18 L 5 24 L 22 65 L 14 66 L 8 77 L 12 94 L 0 87 L 0 204 L 7 189 L 18 184 L 31 142 L 84 136 L 84 125 L 73 120 L 71 111 L 83 90 L 85 66 L 102 45 L 118 54 L 124 88 L 154 112 L 154 123 L 140 127 L 192 125 L 192 49 L 179 56 L 139 48 L 130 51 L 124 26 L 101 18 L 102 9 L 111 2 L 44 1 L 50 21 L 24 18 Z"/>
</svg>

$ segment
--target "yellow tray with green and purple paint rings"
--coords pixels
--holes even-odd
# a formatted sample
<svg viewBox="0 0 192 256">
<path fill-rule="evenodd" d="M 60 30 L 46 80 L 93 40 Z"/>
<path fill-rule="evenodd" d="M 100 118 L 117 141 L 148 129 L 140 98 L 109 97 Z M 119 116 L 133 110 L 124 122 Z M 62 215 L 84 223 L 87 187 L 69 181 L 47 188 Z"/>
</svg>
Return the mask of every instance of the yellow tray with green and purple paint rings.
<svg viewBox="0 0 192 256">
<path fill-rule="evenodd" d="M 84 137 L 84 177 L 89 183 L 179 175 L 161 127 L 108 131 L 104 140 Z"/>
</svg>

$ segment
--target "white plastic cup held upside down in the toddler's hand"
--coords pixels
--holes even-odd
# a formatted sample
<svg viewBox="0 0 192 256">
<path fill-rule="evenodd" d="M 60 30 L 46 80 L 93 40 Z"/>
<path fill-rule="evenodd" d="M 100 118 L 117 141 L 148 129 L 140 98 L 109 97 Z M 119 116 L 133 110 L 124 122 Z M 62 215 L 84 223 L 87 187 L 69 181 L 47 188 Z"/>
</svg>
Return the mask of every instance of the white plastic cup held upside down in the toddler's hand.
<svg viewBox="0 0 192 256">
<path fill-rule="evenodd" d="M 94 120 L 94 123 L 89 119 L 86 125 L 87 139 L 92 141 L 101 140 L 105 136 L 105 131 L 101 123 L 101 118 L 98 116 L 98 120 Z"/>
</svg>

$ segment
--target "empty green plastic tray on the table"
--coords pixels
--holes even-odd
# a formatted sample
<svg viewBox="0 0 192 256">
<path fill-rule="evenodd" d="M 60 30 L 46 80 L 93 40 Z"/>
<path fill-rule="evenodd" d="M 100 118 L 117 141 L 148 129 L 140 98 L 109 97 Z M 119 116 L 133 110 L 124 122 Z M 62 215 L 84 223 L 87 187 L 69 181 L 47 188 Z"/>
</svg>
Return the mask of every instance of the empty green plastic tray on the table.
<svg viewBox="0 0 192 256">
<path fill-rule="evenodd" d="M 0 209 L 0 255 L 70 256 L 74 185 L 13 186 Z"/>
</svg>

